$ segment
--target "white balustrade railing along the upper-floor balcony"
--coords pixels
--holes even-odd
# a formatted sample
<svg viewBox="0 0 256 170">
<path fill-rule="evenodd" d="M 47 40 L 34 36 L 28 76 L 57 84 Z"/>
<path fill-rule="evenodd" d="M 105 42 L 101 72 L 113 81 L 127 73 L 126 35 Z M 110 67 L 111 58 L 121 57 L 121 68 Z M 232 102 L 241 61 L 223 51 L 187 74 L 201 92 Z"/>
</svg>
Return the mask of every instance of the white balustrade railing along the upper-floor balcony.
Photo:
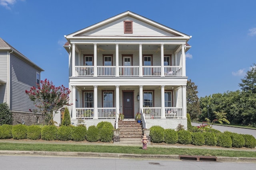
<svg viewBox="0 0 256 170">
<path fill-rule="evenodd" d="M 76 66 L 76 76 L 94 76 L 94 66 Z M 142 66 L 142 76 L 161 76 L 161 66 Z M 97 66 L 97 76 L 116 76 L 116 66 Z M 140 76 L 139 66 L 119 66 L 119 76 Z M 164 66 L 163 76 L 182 76 L 181 66 Z"/>
</svg>

